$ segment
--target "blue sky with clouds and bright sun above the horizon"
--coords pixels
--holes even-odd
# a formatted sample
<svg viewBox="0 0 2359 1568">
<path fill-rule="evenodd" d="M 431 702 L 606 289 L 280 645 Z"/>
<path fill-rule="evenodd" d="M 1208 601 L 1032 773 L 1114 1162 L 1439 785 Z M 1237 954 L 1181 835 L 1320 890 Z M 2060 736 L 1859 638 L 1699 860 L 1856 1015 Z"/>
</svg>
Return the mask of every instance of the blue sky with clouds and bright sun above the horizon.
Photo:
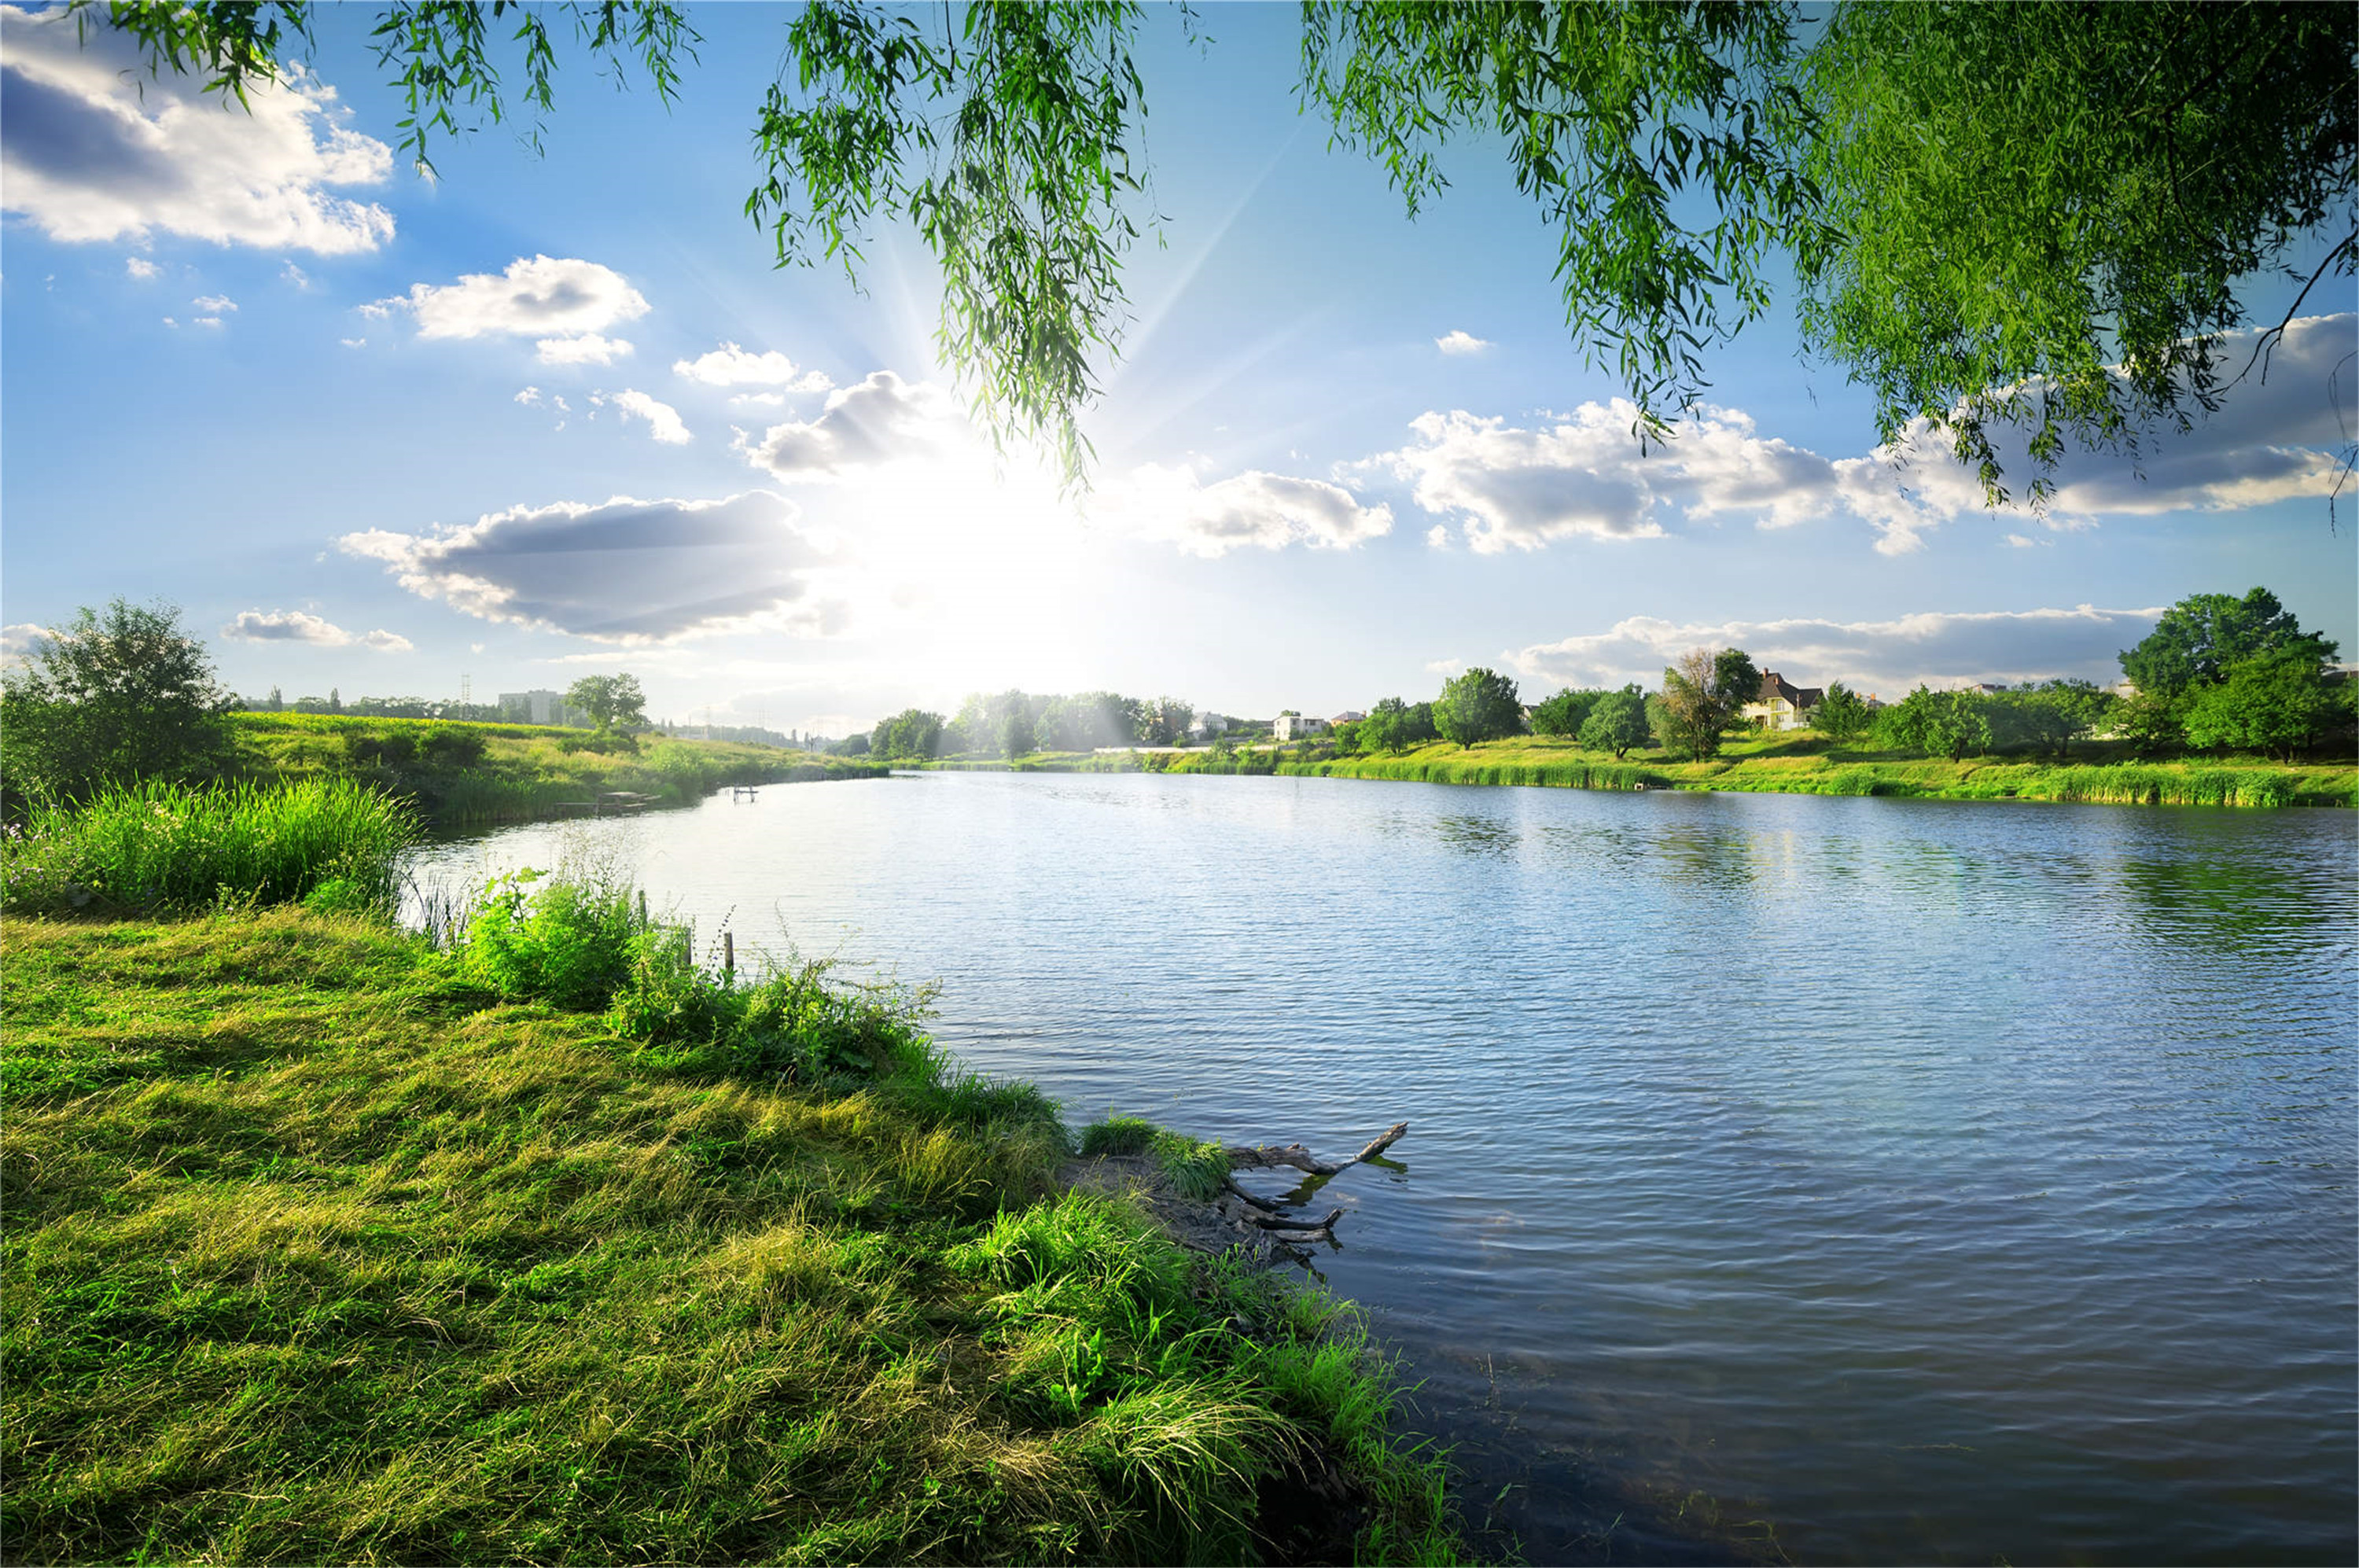
<svg viewBox="0 0 2359 1568">
<path fill-rule="evenodd" d="M 826 733 L 1005 686 L 1333 712 L 1470 663 L 1538 698 L 1724 641 L 1885 693 L 2114 679 L 2154 611 L 2253 585 L 2359 653 L 2354 498 L 2331 528 L 2324 495 L 2347 288 L 2142 476 L 2066 460 L 2045 516 L 1880 455 L 1790 297 L 1642 460 L 1505 160 L 1456 146 L 1404 219 L 1295 111 L 1293 7 L 1213 7 L 1208 50 L 1146 19 L 1165 245 L 1059 502 L 967 429 L 908 233 L 866 292 L 769 264 L 741 205 L 788 17 L 694 9 L 672 108 L 569 59 L 545 156 L 486 127 L 425 182 L 366 7 L 252 116 L 0 7 L 12 646 L 163 597 L 248 693 L 630 670 L 658 714 Z"/>
</svg>

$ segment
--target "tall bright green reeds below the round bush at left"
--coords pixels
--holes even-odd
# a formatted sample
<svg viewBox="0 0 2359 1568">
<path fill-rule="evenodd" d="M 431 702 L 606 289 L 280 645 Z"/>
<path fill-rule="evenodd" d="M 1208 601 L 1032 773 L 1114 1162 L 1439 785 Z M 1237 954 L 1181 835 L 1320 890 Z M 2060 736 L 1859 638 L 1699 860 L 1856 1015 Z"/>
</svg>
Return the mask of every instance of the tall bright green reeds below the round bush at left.
<svg viewBox="0 0 2359 1568">
<path fill-rule="evenodd" d="M 5 901 L 24 913 L 193 913 L 307 901 L 389 910 L 418 821 L 349 778 L 111 788 L 42 806 L 5 842 Z"/>
</svg>

